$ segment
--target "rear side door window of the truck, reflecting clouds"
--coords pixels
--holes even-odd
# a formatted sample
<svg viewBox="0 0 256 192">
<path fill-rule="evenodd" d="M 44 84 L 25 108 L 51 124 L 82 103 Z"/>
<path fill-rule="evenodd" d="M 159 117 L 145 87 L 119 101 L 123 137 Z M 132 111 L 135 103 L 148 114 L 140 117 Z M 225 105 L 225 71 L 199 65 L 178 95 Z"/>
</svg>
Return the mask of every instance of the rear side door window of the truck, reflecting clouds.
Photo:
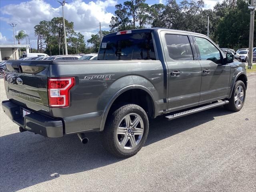
<svg viewBox="0 0 256 192">
<path fill-rule="evenodd" d="M 187 35 L 165 34 L 166 45 L 170 58 L 173 60 L 194 60 Z"/>
</svg>

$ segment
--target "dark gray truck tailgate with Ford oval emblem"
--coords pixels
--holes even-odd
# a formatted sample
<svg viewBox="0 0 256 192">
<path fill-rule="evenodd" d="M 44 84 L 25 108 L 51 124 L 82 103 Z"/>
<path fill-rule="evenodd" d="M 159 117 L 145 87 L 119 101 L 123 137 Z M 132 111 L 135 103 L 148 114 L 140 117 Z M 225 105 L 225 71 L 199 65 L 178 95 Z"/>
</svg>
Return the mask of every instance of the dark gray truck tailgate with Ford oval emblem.
<svg viewBox="0 0 256 192">
<path fill-rule="evenodd" d="M 8 61 L 4 85 L 8 99 L 24 108 L 48 114 L 47 61 Z"/>
</svg>

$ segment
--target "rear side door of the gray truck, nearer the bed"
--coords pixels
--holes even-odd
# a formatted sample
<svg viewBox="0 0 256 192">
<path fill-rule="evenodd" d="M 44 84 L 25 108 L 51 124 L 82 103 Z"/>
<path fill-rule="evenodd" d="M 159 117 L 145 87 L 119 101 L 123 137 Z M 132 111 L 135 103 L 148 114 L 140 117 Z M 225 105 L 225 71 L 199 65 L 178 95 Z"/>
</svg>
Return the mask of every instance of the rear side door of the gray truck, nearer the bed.
<svg viewBox="0 0 256 192">
<path fill-rule="evenodd" d="M 168 112 L 197 106 L 200 99 L 201 65 L 195 59 L 189 34 L 161 32 L 168 66 Z"/>
</svg>

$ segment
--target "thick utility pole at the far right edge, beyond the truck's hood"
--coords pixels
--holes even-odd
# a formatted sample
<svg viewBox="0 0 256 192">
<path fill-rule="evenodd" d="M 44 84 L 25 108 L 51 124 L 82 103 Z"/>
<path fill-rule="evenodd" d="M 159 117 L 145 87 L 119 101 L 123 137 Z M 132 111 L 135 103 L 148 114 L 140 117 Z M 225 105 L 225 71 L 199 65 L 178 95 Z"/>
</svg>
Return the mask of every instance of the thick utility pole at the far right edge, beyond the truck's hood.
<svg viewBox="0 0 256 192">
<path fill-rule="evenodd" d="M 256 6 L 256 0 L 251 0 L 251 4 L 248 1 L 248 8 L 251 10 L 250 12 L 250 35 L 249 35 L 249 60 L 248 60 L 248 69 L 252 69 L 252 57 L 253 57 L 253 34 L 254 34 L 254 12 Z"/>
</svg>

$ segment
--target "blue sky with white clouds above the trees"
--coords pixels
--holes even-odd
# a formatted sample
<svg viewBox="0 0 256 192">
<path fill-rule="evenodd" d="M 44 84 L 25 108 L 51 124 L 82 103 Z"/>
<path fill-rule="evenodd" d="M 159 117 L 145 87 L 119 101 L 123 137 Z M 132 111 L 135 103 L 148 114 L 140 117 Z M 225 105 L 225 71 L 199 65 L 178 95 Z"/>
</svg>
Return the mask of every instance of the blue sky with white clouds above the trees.
<svg viewBox="0 0 256 192">
<path fill-rule="evenodd" d="M 62 0 L 60 0 L 62 1 Z M 179 2 L 180 0 L 176 0 Z M 213 8 L 222 0 L 204 0 L 204 8 Z M 123 0 L 66 0 L 64 17 L 74 22 L 74 30 L 84 35 L 85 41 L 96 34 L 101 23 L 102 30 L 109 30 L 111 17 L 114 16 L 115 5 Z M 149 5 L 164 4 L 166 0 L 146 0 Z M 34 26 L 42 20 L 51 20 L 62 16 L 62 7 L 56 0 L 0 0 L 0 44 L 13 44 L 13 28 L 9 24 L 17 24 L 15 35 L 19 30 L 28 34 L 32 48 L 36 48 L 37 38 Z M 26 44 L 22 40 L 21 44 Z"/>
</svg>

